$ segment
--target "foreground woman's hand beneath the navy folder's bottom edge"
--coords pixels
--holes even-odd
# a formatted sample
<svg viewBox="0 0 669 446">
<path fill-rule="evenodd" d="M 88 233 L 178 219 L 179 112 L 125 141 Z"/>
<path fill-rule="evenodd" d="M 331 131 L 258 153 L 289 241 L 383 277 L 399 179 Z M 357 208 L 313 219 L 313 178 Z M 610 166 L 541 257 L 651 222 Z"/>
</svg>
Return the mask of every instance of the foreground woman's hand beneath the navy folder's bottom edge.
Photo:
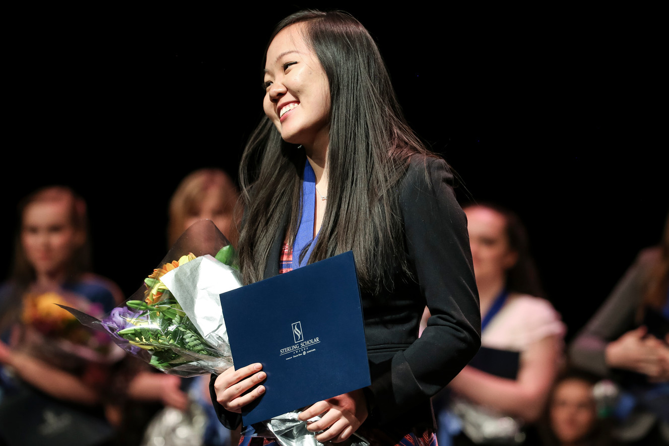
<svg viewBox="0 0 669 446">
<path fill-rule="evenodd" d="M 321 414 L 320 420 L 309 423 L 306 429 L 311 432 L 324 431 L 316 435 L 316 440 L 321 443 L 339 443 L 351 437 L 367 419 L 367 399 L 362 389 L 353 390 L 312 404 L 298 418 L 307 421 Z"/>
</svg>

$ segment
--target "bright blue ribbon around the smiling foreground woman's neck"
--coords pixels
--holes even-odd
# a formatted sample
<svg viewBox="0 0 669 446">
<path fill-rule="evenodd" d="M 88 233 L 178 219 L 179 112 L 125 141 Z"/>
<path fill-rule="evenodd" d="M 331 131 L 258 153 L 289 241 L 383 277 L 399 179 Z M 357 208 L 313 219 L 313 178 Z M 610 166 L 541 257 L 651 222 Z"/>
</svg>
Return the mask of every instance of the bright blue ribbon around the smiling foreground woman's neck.
<svg viewBox="0 0 669 446">
<path fill-rule="evenodd" d="M 304 175 L 302 177 L 302 195 L 300 196 L 300 206 L 302 206 L 302 217 L 300 226 L 298 226 L 295 242 L 293 244 L 292 269 L 304 267 L 309 260 L 318 234 L 314 237 L 314 214 L 316 212 L 316 174 L 308 159 L 304 160 Z M 309 248 L 304 254 L 300 263 L 300 252 L 304 246 L 309 244 Z"/>
</svg>

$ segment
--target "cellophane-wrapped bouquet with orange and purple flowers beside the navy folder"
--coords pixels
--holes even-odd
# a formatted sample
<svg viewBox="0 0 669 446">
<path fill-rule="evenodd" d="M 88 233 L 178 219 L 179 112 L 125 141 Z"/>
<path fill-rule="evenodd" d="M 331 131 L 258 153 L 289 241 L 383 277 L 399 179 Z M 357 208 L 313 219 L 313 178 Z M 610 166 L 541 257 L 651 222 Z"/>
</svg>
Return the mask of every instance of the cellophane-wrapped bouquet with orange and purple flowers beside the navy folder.
<svg viewBox="0 0 669 446">
<path fill-rule="evenodd" d="M 240 286 L 233 247 L 211 220 L 201 220 L 108 315 L 96 319 L 70 311 L 167 374 L 220 374 L 232 366 L 232 356 L 219 294 Z"/>
</svg>

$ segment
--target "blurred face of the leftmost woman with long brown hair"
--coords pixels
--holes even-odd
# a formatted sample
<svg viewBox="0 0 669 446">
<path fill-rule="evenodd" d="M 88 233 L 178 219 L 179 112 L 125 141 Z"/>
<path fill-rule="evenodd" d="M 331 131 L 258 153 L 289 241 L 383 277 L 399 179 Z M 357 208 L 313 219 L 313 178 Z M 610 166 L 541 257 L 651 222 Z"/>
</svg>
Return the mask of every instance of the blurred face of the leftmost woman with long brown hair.
<svg viewBox="0 0 669 446">
<path fill-rule="evenodd" d="M 35 202 L 23 210 L 21 244 L 38 276 L 65 271 L 81 239 L 72 226 L 68 202 Z"/>
</svg>

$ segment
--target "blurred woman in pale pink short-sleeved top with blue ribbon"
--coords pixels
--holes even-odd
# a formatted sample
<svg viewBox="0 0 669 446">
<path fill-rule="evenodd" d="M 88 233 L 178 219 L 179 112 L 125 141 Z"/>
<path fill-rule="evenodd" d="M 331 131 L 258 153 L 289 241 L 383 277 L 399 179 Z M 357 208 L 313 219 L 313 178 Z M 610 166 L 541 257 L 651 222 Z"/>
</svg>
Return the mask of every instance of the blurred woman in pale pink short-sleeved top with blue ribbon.
<svg viewBox="0 0 669 446">
<path fill-rule="evenodd" d="M 565 325 L 542 299 L 524 226 L 508 210 L 466 206 L 482 315 L 481 350 L 437 405 L 438 440 L 522 444 L 539 419 L 563 357 Z"/>
</svg>

